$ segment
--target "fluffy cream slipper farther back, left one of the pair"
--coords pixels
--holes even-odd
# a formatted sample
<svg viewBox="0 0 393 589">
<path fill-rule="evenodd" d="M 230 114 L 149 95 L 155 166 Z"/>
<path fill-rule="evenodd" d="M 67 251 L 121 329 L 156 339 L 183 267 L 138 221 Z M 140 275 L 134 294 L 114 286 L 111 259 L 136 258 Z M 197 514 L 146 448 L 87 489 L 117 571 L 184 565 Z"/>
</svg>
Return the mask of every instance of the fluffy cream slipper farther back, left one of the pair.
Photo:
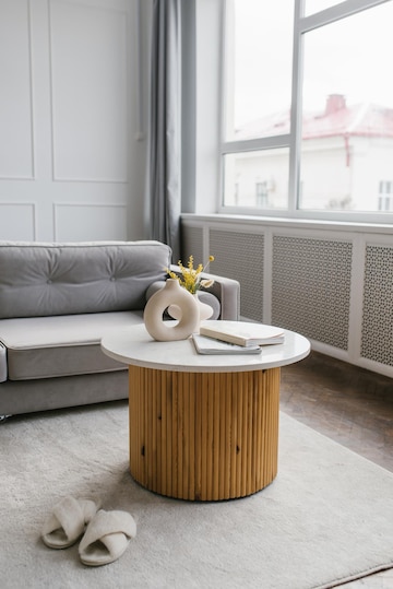
<svg viewBox="0 0 393 589">
<path fill-rule="evenodd" d="M 41 537 L 50 549 L 67 549 L 83 534 L 86 525 L 93 519 L 99 504 L 92 499 L 64 497 L 55 505 L 44 523 Z"/>
</svg>

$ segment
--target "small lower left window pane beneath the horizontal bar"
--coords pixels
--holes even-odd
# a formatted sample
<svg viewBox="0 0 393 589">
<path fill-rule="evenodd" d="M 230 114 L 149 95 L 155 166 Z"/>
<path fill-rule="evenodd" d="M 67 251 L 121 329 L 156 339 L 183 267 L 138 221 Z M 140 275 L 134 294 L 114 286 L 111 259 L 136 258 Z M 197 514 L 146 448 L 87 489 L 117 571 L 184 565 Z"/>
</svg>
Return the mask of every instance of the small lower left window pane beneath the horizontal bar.
<svg viewBox="0 0 393 589">
<path fill-rule="evenodd" d="M 225 155 L 224 205 L 287 209 L 288 162 L 287 148 Z"/>
</svg>

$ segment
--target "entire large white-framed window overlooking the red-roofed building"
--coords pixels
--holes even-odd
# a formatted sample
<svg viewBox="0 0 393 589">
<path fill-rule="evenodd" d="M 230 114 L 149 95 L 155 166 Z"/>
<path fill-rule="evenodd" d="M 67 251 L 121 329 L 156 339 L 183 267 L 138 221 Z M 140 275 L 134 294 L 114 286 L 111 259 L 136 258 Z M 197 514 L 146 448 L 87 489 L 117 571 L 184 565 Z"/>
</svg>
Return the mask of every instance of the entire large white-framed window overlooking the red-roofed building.
<svg viewBox="0 0 393 589">
<path fill-rule="evenodd" d="M 393 0 L 225 1 L 221 212 L 389 222 L 392 22 Z"/>
</svg>

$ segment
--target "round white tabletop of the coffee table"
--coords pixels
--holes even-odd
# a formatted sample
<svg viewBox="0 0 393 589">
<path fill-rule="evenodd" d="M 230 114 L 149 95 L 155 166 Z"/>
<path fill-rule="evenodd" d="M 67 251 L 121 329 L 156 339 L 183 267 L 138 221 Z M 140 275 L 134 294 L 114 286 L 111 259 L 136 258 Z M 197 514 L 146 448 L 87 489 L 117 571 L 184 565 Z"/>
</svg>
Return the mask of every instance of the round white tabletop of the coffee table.
<svg viewBox="0 0 393 589">
<path fill-rule="evenodd" d="M 239 373 L 286 366 L 308 356 L 310 342 L 303 335 L 288 330 L 283 332 L 284 343 L 263 345 L 261 354 L 198 354 L 191 338 L 158 342 L 147 333 L 144 323 L 114 331 L 103 338 L 100 345 L 109 357 L 144 368 L 190 373 Z"/>
</svg>

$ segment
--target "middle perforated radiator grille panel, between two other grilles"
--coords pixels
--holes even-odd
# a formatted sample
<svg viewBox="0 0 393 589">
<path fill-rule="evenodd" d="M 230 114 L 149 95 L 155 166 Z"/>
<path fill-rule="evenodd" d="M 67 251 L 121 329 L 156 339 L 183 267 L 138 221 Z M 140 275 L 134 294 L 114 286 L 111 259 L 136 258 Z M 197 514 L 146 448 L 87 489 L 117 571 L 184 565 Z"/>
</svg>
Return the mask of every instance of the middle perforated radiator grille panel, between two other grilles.
<svg viewBox="0 0 393 589">
<path fill-rule="evenodd" d="M 348 349 L 353 245 L 273 237 L 272 323 Z"/>
</svg>

